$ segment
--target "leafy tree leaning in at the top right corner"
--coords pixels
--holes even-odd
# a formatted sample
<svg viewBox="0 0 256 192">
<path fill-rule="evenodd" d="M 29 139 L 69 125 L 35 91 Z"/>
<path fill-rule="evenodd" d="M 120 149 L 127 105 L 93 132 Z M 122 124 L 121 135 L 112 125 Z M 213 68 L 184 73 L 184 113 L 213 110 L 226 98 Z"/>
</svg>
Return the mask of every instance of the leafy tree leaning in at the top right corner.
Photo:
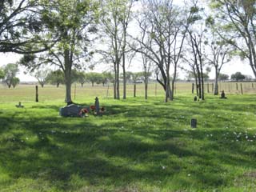
<svg viewBox="0 0 256 192">
<path fill-rule="evenodd" d="M 255 6 L 253 0 L 212 0 L 215 14 L 209 20 L 218 26 L 218 35 L 233 46 L 233 53 L 249 61 L 256 77 Z"/>
</svg>

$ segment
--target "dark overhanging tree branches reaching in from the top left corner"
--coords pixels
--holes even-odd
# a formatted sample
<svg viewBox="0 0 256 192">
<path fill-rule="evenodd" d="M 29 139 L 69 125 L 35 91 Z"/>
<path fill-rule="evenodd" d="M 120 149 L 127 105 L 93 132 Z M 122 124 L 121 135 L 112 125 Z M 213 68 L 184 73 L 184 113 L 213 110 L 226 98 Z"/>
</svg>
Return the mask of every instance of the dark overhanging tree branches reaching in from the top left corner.
<svg viewBox="0 0 256 192">
<path fill-rule="evenodd" d="M 0 1 L 0 52 L 38 53 L 54 43 L 44 33 L 40 7 L 37 0 Z"/>
</svg>

